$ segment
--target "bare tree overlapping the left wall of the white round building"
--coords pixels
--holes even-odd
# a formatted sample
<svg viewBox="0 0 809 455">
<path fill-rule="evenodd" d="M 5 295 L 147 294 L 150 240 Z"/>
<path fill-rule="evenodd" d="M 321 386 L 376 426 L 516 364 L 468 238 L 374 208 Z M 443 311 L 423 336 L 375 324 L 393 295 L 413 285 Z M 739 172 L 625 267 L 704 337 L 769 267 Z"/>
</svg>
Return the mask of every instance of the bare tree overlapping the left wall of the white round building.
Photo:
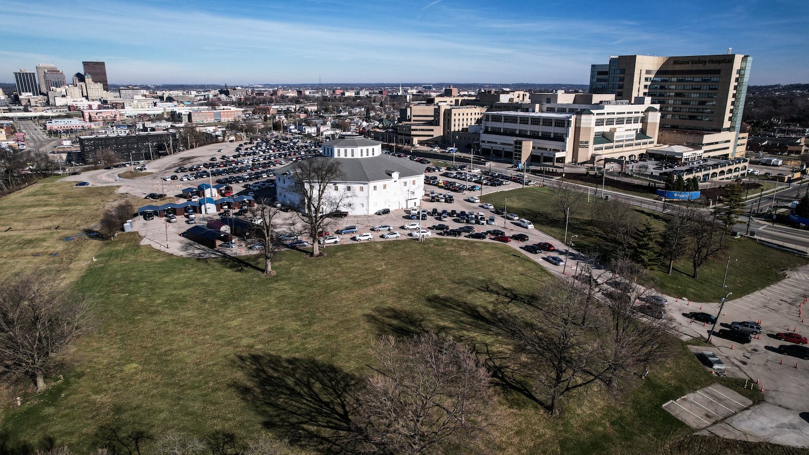
<svg viewBox="0 0 809 455">
<path fill-rule="evenodd" d="M 332 212 L 349 209 L 349 197 L 353 194 L 345 181 L 340 162 L 325 156 L 303 159 L 290 169 L 293 183 L 294 209 L 312 239 L 312 257 L 320 256 L 317 235 L 333 223 Z"/>
</svg>

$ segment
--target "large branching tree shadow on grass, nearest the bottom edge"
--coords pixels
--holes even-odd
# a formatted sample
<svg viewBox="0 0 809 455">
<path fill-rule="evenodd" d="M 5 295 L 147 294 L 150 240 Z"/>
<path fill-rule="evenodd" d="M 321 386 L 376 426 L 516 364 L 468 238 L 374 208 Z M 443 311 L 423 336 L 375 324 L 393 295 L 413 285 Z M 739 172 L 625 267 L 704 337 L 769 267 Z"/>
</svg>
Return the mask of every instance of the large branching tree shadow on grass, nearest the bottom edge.
<svg viewBox="0 0 809 455">
<path fill-rule="evenodd" d="M 267 429 L 320 453 L 350 452 L 358 376 L 311 358 L 239 355 L 236 364 L 246 381 L 235 388 Z"/>
</svg>

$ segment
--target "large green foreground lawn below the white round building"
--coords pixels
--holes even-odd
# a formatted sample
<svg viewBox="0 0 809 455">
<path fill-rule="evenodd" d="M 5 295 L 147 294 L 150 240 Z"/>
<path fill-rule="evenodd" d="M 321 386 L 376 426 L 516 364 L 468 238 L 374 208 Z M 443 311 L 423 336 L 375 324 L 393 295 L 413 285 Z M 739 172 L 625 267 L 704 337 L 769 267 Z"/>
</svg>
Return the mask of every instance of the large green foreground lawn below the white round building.
<svg viewBox="0 0 809 455">
<path fill-rule="evenodd" d="M 368 343 L 379 334 L 443 330 L 492 342 L 469 313 L 457 311 L 459 303 L 488 306 L 497 297 L 487 284 L 515 291 L 554 285 L 534 262 L 484 242 L 327 251 L 314 260 L 282 253 L 277 276 L 266 279 L 225 259 L 168 256 L 138 245 L 134 235 L 108 242 L 76 284 L 94 304 L 95 333 L 76 344 L 61 382 L 50 378 L 51 389 L 6 410 L 0 434 L 53 437 L 80 450 L 91 449 L 88 441 L 107 425 L 249 437 L 267 416 L 236 389 L 248 375 L 238 355 L 311 359 L 363 375 L 370 372 Z M 646 453 L 690 434 L 660 404 L 714 379 L 683 347 L 625 396 L 573 395 L 561 419 L 504 396 L 498 451 Z"/>
</svg>

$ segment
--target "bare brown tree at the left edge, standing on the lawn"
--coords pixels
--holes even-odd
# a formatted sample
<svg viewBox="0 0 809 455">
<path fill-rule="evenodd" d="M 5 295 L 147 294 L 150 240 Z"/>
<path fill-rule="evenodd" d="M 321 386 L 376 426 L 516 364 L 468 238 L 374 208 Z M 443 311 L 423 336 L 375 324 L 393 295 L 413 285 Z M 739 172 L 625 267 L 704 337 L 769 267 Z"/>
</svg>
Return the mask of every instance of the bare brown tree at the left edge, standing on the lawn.
<svg viewBox="0 0 809 455">
<path fill-rule="evenodd" d="M 0 287 L 0 372 L 45 387 L 55 356 L 87 330 L 87 307 L 44 274 L 23 274 Z"/>
</svg>

